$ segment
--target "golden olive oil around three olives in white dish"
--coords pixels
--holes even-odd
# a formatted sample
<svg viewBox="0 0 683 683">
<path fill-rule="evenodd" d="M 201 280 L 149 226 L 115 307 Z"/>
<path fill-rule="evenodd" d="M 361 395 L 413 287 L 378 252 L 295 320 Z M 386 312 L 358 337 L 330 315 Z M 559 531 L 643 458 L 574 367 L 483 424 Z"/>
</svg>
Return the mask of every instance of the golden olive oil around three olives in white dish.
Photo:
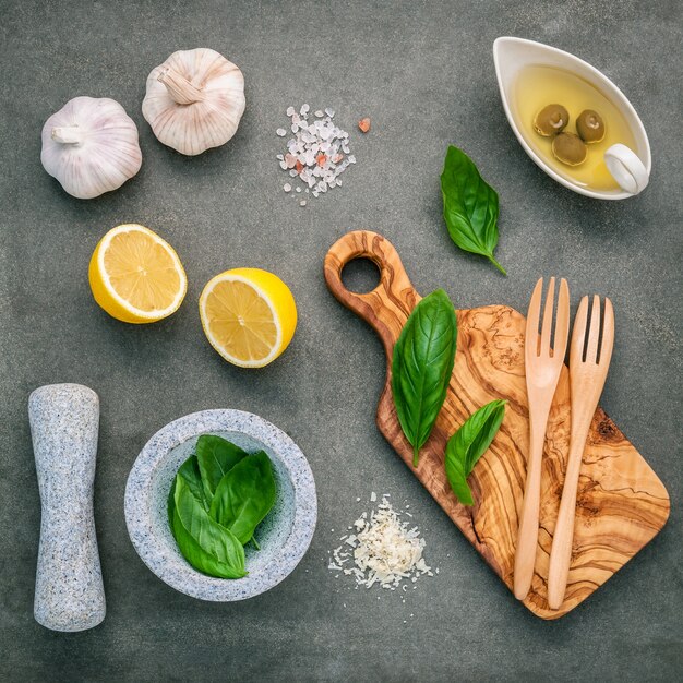
<svg viewBox="0 0 683 683">
<path fill-rule="evenodd" d="M 637 149 L 637 145 L 626 119 L 603 93 L 564 69 L 528 64 L 517 74 L 512 95 L 510 104 L 525 142 L 553 171 L 583 188 L 621 192 L 604 163 L 604 152 L 616 143 L 631 149 Z M 568 111 L 565 133 L 577 133 L 576 120 L 586 109 L 597 111 L 604 121 L 604 137 L 587 146 L 586 159 L 577 166 L 558 160 L 552 153 L 552 137 L 539 135 L 534 128 L 537 113 L 552 104 Z"/>
</svg>

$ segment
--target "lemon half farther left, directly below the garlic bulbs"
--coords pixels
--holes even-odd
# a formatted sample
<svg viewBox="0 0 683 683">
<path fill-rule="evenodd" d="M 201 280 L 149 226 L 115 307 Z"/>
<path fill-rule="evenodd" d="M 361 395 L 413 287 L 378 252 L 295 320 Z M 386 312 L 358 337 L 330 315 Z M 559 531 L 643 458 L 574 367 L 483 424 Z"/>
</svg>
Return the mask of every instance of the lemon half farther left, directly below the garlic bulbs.
<svg viewBox="0 0 683 683">
<path fill-rule="evenodd" d="M 101 238 L 88 279 L 95 301 L 125 323 L 154 323 L 178 310 L 188 277 L 173 248 L 136 224 L 120 225 Z"/>
</svg>

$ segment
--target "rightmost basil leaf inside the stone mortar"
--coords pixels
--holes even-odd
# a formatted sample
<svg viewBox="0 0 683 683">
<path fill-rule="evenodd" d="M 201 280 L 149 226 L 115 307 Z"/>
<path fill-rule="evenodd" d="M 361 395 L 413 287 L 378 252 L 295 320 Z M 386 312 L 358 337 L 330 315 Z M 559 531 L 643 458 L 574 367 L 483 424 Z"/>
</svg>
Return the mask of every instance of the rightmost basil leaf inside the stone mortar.
<svg viewBox="0 0 683 683">
<path fill-rule="evenodd" d="M 260 451 L 238 463 L 221 480 L 209 515 L 248 543 L 275 504 L 275 477 L 271 459 Z"/>
</svg>

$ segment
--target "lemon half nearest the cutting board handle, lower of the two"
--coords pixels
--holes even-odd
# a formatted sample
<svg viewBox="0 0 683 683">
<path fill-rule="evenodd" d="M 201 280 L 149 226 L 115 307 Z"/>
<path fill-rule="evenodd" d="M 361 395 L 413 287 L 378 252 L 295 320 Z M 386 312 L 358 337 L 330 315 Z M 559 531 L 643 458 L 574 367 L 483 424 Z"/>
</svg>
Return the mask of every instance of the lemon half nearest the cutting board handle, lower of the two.
<svg viewBox="0 0 683 683">
<path fill-rule="evenodd" d="M 297 327 L 295 298 L 283 280 L 260 268 L 235 268 L 211 279 L 200 297 L 211 345 L 241 368 L 263 368 L 289 345 Z"/>
</svg>

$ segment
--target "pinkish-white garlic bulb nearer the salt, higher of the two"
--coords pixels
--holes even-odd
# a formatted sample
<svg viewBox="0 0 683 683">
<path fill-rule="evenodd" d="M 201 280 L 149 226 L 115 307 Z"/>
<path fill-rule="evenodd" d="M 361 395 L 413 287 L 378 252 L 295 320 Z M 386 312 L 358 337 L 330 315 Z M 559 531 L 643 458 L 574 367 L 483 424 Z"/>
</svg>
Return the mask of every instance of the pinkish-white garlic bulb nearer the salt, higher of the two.
<svg viewBox="0 0 683 683">
<path fill-rule="evenodd" d="M 147 77 L 142 113 L 160 142 L 193 156 L 224 145 L 244 112 L 244 76 L 208 48 L 179 50 Z"/>
</svg>

